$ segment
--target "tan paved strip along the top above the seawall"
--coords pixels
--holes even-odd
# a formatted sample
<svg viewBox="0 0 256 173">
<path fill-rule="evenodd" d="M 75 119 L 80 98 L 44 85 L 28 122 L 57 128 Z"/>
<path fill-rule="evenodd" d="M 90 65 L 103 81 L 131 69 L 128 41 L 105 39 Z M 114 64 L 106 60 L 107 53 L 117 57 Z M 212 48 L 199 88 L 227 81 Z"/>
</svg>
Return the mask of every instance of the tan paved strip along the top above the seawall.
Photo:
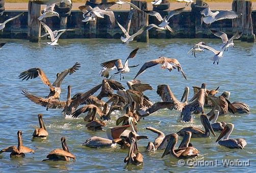
<svg viewBox="0 0 256 173">
<path fill-rule="evenodd" d="M 212 10 L 231 10 L 232 3 L 214 3 L 207 2 Z M 72 10 L 79 10 L 79 6 L 83 6 L 85 3 L 73 3 Z M 182 8 L 185 7 L 185 3 L 170 3 L 170 9 Z M 5 3 L 6 10 L 28 10 L 28 3 Z M 44 6 L 42 6 L 44 9 Z M 110 9 L 112 10 L 129 10 L 130 5 L 114 5 Z M 252 9 L 256 10 L 256 2 L 252 3 Z M 148 10 L 152 10 L 152 4 L 148 3 Z M 187 6 L 185 10 L 191 10 L 190 6 Z"/>
</svg>

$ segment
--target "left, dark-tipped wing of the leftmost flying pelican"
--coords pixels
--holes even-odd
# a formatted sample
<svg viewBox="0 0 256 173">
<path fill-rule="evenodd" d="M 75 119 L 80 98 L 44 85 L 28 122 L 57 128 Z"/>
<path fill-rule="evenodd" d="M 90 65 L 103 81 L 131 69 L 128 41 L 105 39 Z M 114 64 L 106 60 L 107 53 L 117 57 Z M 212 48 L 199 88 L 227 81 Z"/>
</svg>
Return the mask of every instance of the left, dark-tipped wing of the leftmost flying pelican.
<svg viewBox="0 0 256 173">
<path fill-rule="evenodd" d="M 37 78 L 38 76 L 45 85 L 51 86 L 50 81 L 40 68 L 30 68 L 29 70 L 22 72 L 19 74 L 19 79 L 22 78 L 22 81 L 27 81 L 29 79 Z"/>
</svg>

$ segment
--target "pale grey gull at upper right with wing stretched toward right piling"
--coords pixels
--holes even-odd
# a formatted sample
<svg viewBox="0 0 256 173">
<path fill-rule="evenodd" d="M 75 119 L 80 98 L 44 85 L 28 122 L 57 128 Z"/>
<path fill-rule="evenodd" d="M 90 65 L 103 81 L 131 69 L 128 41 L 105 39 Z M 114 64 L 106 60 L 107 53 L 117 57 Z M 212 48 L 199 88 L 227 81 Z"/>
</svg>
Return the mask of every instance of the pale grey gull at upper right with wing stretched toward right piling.
<svg viewBox="0 0 256 173">
<path fill-rule="evenodd" d="M 206 8 L 201 11 L 201 14 L 204 15 L 205 17 L 202 18 L 204 23 L 211 24 L 217 20 L 222 20 L 222 19 L 235 19 L 238 17 L 241 17 L 242 15 L 234 12 L 234 11 L 216 11 L 212 12 L 210 8 Z"/>
</svg>

